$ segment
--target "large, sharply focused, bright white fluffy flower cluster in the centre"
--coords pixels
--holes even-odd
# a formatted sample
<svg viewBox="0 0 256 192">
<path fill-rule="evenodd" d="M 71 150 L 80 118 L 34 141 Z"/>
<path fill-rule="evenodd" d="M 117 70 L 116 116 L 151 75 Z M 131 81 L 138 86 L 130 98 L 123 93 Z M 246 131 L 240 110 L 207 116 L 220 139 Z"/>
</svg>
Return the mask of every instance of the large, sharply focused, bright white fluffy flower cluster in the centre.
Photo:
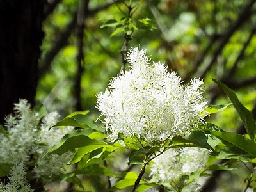
<svg viewBox="0 0 256 192">
<path fill-rule="evenodd" d="M 204 111 L 203 82 L 192 79 L 182 85 L 163 63 L 148 63 L 145 50 L 138 47 L 129 52 L 127 61 L 131 69 L 114 77 L 97 99 L 110 138 L 136 136 L 150 144 L 186 136 Z"/>
</svg>

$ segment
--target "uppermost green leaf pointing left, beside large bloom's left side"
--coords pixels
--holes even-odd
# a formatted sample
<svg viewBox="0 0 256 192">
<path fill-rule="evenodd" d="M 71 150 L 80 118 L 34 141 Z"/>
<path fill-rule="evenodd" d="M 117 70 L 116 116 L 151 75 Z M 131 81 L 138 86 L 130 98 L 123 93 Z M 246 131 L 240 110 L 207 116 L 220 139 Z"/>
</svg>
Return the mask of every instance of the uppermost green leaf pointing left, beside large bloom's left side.
<svg viewBox="0 0 256 192">
<path fill-rule="evenodd" d="M 60 127 L 60 126 L 74 126 L 74 127 L 80 127 L 80 128 L 91 128 L 98 130 L 99 128 L 97 125 L 88 118 L 86 115 L 89 113 L 89 111 L 76 111 L 74 113 L 71 113 L 70 115 L 66 116 L 58 122 L 56 125 L 52 127 Z"/>
</svg>

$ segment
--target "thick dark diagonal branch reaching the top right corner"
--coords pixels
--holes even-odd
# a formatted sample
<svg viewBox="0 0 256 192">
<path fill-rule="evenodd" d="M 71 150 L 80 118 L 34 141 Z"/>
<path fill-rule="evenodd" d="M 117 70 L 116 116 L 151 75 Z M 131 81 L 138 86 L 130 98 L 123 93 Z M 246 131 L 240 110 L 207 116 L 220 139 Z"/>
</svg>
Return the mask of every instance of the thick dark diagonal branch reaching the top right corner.
<svg viewBox="0 0 256 192">
<path fill-rule="evenodd" d="M 230 39 L 230 37 L 235 33 L 235 31 L 244 23 L 245 20 L 248 20 L 251 16 L 250 10 L 253 6 L 253 4 L 256 2 L 256 0 L 252 0 L 250 1 L 250 3 L 248 3 L 243 10 L 241 11 L 241 13 L 239 14 L 236 22 L 234 23 L 233 26 L 230 27 L 230 30 L 227 31 L 227 34 L 225 36 L 223 36 L 219 46 L 217 47 L 217 49 L 215 50 L 211 61 L 209 62 L 209 64 L 207 65 L 207 67 L 203 70 L 202 74 L 200 74 L 200 79 L 204 79 L 205 75 L 207 74 L 207 72 L 211 69 L 212 65 L 214 65 L 214 63 L 216 62 L 218 56 L 221 54 L 223 48 L 225 47 L 225 45 L 228 43 L 228 40 Z"/>
</svg>

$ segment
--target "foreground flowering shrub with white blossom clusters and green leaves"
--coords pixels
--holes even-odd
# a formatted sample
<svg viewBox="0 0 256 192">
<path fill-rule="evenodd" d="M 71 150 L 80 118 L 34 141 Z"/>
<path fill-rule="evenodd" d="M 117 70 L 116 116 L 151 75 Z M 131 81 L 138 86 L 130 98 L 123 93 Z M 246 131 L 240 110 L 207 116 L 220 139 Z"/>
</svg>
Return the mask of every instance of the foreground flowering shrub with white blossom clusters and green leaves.
<svg viewBox="0 0 256 192">
<path fill-rule="evenodd" d="M 76 111 L 57 122 L 56 112 L 42 118 L 26 100 L 15 104 L 15 115 L 6 116 L 0 130 L 0 176 L 8 176 L 0 191 L 33 191 L 31 180 L 47 184 L 64 177 L 84 189 L 78 175 L 104 177 L 108 181 L 102 191 L 199 191 L 199 177 L 232 170 L 230 162 L 248 163 L 255 170 L 255 120 L 230 88 L 213 80 L 234 104 L 245 135 L 225 132 L 204 120 L 230 104 L 205 106 L 201 80 L 184 84 L 164 64 L 149 63 L 143 49 L 132 49 L 127 61 L 131 69 L 114 77 L 98 95 L 103 131 L 86 116 L 88 111 Z M 49 130 L 60 126 L 66 128 Z M 120 151 L 128 155 L 128 166 L 133 165 L 122 173 L 109 167 Z M 221 159 L 230 161 L 216 163 Z M 76 169 L 68 168 L 67 162 L 77 163 Z M 136 173 L 132 168 L 138 166 Z M 255 188 L 253 181 L 252 171 L 244 191 Z"/>
</svg>

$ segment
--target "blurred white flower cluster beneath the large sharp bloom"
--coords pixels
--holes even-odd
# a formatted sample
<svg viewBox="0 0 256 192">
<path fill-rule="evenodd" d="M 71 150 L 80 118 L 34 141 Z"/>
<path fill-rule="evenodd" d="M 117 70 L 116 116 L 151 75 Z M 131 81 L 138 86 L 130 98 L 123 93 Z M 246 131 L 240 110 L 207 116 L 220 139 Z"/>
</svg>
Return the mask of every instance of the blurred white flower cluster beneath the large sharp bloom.
<svg viewBox="0 0 256 192">
<path fill-rule="evenodd" d="M 205 148 L 170 148 L 153 160 L 150 174 L 156 182 L 179 183 L 182 176 L 204 170 L 209 154 Z M 187 189 L 191 187 L 194 188 L 191 191 L 196 191 L 198 184 L 192 182 L 186 186 Z"/>
</svg>

